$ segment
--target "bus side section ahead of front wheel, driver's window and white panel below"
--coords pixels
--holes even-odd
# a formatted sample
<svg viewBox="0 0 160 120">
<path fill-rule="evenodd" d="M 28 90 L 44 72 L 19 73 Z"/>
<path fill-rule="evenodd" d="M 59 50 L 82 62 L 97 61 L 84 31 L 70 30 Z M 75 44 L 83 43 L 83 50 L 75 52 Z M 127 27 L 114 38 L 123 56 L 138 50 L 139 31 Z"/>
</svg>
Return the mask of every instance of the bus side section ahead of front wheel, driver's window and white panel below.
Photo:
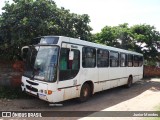
<svg viewBox="0 0 160 120">
<path fill-rule="evenodd" d="M 72 52 L 72 55 L 71 55 Z M 78 73 L 80 69 L 80 50 L 78 46 L 63 43 L 59 59 L 58 91 L 61 99 L 78 96 Z"/>
</svg>

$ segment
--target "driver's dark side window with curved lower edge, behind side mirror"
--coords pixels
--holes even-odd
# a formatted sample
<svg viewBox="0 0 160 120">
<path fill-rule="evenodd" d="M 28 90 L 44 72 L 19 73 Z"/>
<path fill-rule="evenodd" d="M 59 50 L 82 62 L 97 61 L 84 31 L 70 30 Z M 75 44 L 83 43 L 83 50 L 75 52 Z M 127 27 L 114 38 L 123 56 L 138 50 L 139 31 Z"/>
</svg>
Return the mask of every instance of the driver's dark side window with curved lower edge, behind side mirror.
<svg viewBox="0 0 160 120">
<path fill-rule="evenodd" d="M 80 68 L 80 52 L 79 50 L 72 49 L 74 51 L 74 59 L 69 60 L 69 48 L 62 48 L 60 53 L 59 62 L 59 80 L 69 80 L 74 78 Z"/>
</svg>

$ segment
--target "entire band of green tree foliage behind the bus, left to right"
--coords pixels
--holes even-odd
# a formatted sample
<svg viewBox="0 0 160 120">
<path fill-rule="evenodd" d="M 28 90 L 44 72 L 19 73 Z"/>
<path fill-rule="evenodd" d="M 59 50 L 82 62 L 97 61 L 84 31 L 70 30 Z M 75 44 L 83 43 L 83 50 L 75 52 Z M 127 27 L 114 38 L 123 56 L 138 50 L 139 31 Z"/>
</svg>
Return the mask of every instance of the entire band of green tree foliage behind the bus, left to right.
<svg viewBox="0 0 160 120">
<path fill-rule="evenodd" d="M 70 13 L 58 8 L 52 0 L 13 0 L 6 2 L 0 16 L 0 57 L 20 59 L 22 46 L 33 43 L 33 38 L 62 35 L 133 50 L 144 54 L 148 61 L 159 60 L 160 33 L 154 26 L 127 23 L 105 26 L 91 34 L 87 14 Z"/>
</svg>

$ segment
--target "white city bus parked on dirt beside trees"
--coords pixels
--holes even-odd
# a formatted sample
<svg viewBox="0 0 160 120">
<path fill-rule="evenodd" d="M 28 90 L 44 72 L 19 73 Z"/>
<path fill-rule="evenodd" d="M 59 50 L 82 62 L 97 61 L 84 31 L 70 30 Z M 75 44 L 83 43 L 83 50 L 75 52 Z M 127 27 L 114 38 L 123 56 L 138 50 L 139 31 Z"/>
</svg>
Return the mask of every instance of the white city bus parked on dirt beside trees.
<svg viewBox="0 0 160 120">
<path fill-rule="evenodd" d="M 22 48 L 27 57 L 21 87 L 50 103 L 84 102 L 96 92 L 130 87 L 143 77 L 140 53 L 63 36 L 35 40 L 39 43 Z"/>
</svg>

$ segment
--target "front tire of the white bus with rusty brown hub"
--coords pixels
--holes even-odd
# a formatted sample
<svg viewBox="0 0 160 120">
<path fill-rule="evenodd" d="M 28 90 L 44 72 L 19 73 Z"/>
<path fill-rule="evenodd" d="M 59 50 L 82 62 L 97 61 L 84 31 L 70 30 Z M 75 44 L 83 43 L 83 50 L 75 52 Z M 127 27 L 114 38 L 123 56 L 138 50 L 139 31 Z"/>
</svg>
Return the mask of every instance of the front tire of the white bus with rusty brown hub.
<svg viewBox="0 0 160 120">
<path fill-rule="evenodd" d="M 90 96 L 91 96 L 91 88 L 87 83 L 85 83 L 81 88 L 80 97 L 78 100 L 79 102 L 85 102 L 90 98 Z"/>
</svg>

